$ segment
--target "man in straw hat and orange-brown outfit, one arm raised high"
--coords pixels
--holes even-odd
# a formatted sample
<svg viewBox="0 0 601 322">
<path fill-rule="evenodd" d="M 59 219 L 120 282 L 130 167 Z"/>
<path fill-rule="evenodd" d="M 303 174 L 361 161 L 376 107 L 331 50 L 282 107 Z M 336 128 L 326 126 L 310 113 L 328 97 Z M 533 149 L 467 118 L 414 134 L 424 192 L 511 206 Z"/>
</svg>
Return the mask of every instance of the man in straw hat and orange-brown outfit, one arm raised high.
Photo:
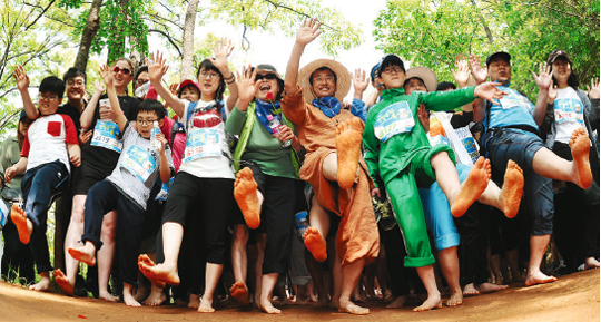
<svg viewBox="0 0 601 322">
<path fill-rule="evenodd" d="M 373 183 L 361 157 L 364 124 L 341 108 L 351 87 L 351 74 L 329 59 L 315 60 L 298 72 L 300 55 L 321 35 L 319 26 L 315 19 L 305 21 L 296 36 L 284 80 L 282 110 L 296 125 L 307 150 L 299 176 L 315 192 L 305 245 L 317 261 L 325 261 L 328 213 L 341 216 L 331 305 L 341 312 L 367 314 L 368 309 L 351 302 L 351 294 L 366 262 L 377 257 L 380 240 L 370 198 Z"/>
</svg>

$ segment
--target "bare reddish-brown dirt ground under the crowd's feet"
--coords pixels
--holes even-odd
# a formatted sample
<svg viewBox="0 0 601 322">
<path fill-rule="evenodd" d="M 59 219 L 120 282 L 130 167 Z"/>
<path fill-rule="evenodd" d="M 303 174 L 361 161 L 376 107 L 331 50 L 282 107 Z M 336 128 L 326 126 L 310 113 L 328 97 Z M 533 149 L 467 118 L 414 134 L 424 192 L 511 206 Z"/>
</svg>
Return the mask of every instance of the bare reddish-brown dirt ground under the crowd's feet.
<svg viewBox="0 0 601 322">
<path fill-rule="evenodd" d="M 354 316 L 326 308 L 280 305 L 283 314 L 218 309 L 213 314 L 173 305 L 127 308 L 93 299 L 39 293 L 0 283 L 0 321 L 600 321 L 599 270 L 561 276 L 558 282 L 467 297 L 459 308 L 414 313 L 371 302 L 372 313 Z"/>
</svg>

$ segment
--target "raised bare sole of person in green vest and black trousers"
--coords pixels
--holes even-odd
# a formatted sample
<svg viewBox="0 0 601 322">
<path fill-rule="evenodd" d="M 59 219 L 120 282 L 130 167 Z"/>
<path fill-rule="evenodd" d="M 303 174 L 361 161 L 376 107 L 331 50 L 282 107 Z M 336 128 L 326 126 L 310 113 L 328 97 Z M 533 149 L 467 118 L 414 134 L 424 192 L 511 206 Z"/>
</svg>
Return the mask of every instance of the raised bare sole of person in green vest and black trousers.
<svg viewBox="0 0 601 322">
<path fill-rule="evenodd" d="M 240 207 L 246 225 L 256 230 L 260 224 L 260 205 L 257 197 L 257 183 L 250 168 L 244 168 L 236 174 L 234 198 Z"/>
</svg>

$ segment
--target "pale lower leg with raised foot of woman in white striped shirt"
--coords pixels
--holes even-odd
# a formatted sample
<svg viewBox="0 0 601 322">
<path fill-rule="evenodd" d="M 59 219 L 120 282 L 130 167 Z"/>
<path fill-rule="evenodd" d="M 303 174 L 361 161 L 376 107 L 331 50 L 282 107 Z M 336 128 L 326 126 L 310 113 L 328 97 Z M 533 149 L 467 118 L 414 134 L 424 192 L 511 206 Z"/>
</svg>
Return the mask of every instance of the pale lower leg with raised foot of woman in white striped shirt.
<svg viewBox="0 0 601 322">
<path fill-rule="evenodd" d="M 167 222 L 162 224 L 162 248 L 165 251 L 165 262 L 155 266 L 138 262 L 142 273 L 152 283 L 161 281 L 170 285 L 179 285 L 177 273 L 177 257 L 179 247 L 184 238 L 184 227 L 178 223 Z"/>
</svg>

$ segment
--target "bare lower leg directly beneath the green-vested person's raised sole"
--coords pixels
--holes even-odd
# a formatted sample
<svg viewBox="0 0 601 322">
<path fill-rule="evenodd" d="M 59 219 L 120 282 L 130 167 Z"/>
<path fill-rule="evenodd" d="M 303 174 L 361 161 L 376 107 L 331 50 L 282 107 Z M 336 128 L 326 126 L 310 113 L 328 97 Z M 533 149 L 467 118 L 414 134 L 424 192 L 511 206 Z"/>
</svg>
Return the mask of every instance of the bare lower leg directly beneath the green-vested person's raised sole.
<svg viewBox="0 0 601 322">
<path fill-rule="evenodd" d="M 236 283 L 229 289 L 231 297 L 243 305 L 248 304 L 248 287 L 246 287 L 246 270 L 248 256 L 246 244 L 248 243 L 248 227 L 236 225 L 234 227 L 234 242 L 231 243 L 231 269 Z"/>
</svg>

